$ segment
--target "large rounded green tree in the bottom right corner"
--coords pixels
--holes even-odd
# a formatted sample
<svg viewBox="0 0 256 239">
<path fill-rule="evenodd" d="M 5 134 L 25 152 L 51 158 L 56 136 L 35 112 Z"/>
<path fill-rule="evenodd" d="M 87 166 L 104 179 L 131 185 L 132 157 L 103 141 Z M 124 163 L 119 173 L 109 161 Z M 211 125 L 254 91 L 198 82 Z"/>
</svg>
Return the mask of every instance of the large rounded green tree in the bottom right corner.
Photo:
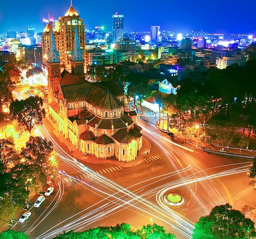
<svg viewBox="0 0 256 239">
<path fill-rule="evenodd" d="M 228 203 L 216 206 L 209 215 L 202 216 L 192 234 L 193 239 L 249 239 L 255 236 L 254 222 L 245 218 L 242 212 L 232 209 Z"/>
</svg>

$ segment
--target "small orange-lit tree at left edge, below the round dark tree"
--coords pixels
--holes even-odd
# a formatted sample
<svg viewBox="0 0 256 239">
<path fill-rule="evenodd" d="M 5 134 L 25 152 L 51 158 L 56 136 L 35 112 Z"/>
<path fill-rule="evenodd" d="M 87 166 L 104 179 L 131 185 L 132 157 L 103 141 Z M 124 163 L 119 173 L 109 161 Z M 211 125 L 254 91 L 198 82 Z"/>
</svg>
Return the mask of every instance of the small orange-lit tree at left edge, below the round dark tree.
<svg viewBox="0 0 256 239">
<path fill-rule="evenodd" d="M 14 144 L 6 139 L 0 139 L 0 171 L 6 172 L 20 160 Z"/>
</svg>

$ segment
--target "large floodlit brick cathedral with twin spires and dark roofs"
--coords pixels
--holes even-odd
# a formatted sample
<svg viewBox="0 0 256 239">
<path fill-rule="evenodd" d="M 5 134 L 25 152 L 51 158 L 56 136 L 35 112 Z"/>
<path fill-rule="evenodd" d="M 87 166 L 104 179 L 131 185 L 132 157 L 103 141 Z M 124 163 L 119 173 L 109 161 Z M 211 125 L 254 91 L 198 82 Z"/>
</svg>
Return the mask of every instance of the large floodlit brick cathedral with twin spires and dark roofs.
<svg viewBox="0 0 256 239">
<path fill-rule="evenodd" d="M 79 17 L 72 5 L 66 15 Z M 122 83 L 85 80 L 78 25 L 72 25 L 72 21 L 70 71 L 64 68 L 61 72 L 65 62 L 60 60 L 56 48 L 57 33 L 49 24 L 45 29 L 49 36 L 46 57 L 49 114 L 58 124 L 59 132 L 83 154 L 101 159 L 116 157 L 121 162 L 136 160 L 142 147 L 141 127 L 137 125 L 136 112 L 124 111 L 126 97 Z"/>
</svg>

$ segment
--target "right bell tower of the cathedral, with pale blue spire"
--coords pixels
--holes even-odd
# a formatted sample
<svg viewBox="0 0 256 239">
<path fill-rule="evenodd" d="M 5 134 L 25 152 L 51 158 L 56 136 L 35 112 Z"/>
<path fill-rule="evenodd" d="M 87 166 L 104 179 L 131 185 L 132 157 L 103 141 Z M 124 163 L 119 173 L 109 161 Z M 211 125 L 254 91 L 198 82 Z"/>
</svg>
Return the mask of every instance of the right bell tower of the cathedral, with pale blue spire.
<svg viewBox="0 0 256 239">
<path fill-rule="evenodd" d="M 74 48 L 72 51 L 72 59 L 71 59 L 71 74 L 76 75 L 82 79 L 84 79 L 84 59 L 82 57 L 82 50 L 79 44 L 79 36 L 77 31 L 77 26 L 75 28 L 75 36 L 74 36 Z"/>
</svg>

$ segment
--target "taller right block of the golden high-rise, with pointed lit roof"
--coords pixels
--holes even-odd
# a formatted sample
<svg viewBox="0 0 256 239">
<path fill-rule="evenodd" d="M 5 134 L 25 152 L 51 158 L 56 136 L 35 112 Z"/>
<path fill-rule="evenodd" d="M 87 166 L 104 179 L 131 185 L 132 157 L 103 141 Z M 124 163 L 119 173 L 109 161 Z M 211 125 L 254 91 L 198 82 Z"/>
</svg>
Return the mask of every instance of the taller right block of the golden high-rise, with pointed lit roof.
<svg viewBox="0 0 256 239">
<path fill-rule="evenodd" d="M 80 47 L 82 50 L 82 54 L 84 56 L 85 46 L 86 46 L 86 37 L 85 37 L 85 27 L 83 25 L 83 19 L 79 18 L 79 14 L 73 8 L 72 4 L 65 14 L 65 16 L 59 17 L 58 29 L 56 31 L 60 34 L 60 42 L 59 42 L 59 53 L 60 53 L 60 61 L 63 66 L 66 67 L 66 70 L 71 72 L 71 58 L 72 58 L 72 50 L 73 39 L 75 36 L 75 29 L 77 27 L 78 30 L 78 38 L 80 42 Z M 58 43 L 57 43 L 58 47 Z"/>
</svg>

